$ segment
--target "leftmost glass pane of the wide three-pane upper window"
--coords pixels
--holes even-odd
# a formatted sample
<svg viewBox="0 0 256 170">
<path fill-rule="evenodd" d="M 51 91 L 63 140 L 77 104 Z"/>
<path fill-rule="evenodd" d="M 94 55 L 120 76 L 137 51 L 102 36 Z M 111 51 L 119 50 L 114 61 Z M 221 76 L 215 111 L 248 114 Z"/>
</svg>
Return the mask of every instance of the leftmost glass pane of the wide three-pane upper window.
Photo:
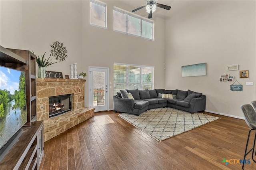
<svg viewBox="0 0 256 170">
<path fill-rule="evenodd" d="M 114 30 L 126 32 L 126 16 L 127 14 L 114 10 Z"/>
</svg>

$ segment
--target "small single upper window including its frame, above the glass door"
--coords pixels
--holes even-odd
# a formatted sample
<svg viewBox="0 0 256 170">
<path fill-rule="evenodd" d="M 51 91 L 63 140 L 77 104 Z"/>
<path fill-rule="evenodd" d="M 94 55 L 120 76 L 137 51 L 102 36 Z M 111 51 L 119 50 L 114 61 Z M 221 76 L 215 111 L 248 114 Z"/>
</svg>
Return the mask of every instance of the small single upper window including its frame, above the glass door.
<svg viewBox="0 0 256 170">
<path fill-rule="evenodd" d="M 107 5 L 99 1 L 90 1 L 90 24 L 107 28 Z"/>
</svg>

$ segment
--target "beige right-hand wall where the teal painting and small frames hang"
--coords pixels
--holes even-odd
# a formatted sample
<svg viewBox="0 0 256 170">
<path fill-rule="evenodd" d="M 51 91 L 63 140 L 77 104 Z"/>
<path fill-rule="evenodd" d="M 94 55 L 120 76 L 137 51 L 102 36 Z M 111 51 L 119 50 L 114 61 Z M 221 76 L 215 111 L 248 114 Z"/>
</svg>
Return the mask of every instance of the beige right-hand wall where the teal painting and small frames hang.
<svg viewBox="0 0 256 170">
<path fill-rule="evenodd" d="M 240 105 L 256 99 L 255 1 L 174 1 L 166 20 L 166 89 L 197 91 L 206 95 L 206 110 L 244 117 Z M 206 76 L 182 77 L 181 66 L 206 63 Z M 239 64 L 239 71 L 226 71 Z M 230 91 L 232 82 L 220 75 L 234 75 L 243 91 Z M 253 86 L 246 86 L 252 81 Z M 238 84 L 238 83 L 235 83 Z"/>
</svg>

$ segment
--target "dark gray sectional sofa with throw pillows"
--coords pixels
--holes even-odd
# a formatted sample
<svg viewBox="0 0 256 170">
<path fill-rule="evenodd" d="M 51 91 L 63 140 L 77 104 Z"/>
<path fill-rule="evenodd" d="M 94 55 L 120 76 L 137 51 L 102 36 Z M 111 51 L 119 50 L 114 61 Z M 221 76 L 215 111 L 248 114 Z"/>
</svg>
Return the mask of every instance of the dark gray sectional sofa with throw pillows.
<svg viewBox="0 0 256 170">
<path fill-rule="evenodd" d="M 158 107 L 172 107 L 190 113 L 204 111 L 206 96 L 194 91 L 182 90 L 120 90 L 113 96 L 114 112 L 140 115 L 144 111 Z"/>
</svg>

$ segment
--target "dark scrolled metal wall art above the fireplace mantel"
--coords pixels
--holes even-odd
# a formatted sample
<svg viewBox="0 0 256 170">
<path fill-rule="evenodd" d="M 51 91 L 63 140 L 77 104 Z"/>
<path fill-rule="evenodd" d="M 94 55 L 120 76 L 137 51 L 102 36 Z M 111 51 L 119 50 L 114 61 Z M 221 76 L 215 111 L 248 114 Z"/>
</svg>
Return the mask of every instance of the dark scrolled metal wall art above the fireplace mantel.
<svg viewBox="0 0 256 170">
<path fill-rule="evenodd" d="M 66 55 L 68 51 L 66 50 L 66 47 L 63 46 L 63 43 L 54 42 L 51 47 L 53 48 L 51 50 L 52 56 L 56 57 L 56 60 L 60 59 L 60 61 L 63 61 L 68 57 Z"/>
</svg>

